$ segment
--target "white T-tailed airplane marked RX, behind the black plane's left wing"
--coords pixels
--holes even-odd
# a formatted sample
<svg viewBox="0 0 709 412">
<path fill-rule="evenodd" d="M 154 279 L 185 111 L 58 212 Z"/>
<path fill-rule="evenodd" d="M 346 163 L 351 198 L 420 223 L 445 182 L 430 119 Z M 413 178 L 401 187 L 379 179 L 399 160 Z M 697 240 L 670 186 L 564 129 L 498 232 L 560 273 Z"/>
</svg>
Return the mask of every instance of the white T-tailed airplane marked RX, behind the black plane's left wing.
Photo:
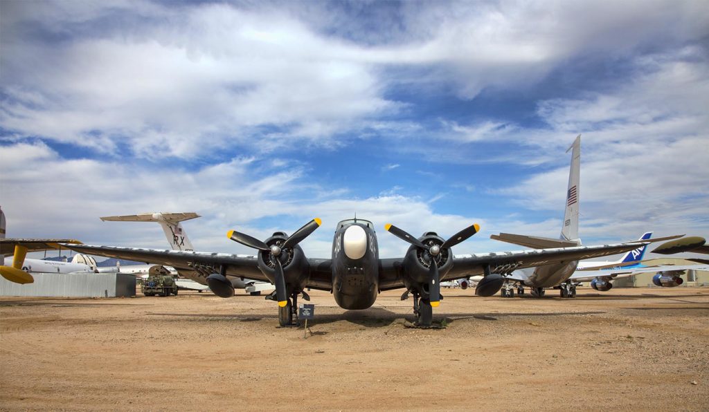
<svg viewBox="0 0 709 412">
<path fill-rule="evenodd" d="M 123 216 L 105 216 L 101 217 L 104 222 L 157 222 L 162 227 L 167 242 L 173 251 L 194 251 L 192 247 L 192 242 L 187 237 L 187 232 L 182 227 L 182 223 L 189 219 L 196 219 L 199 214 L 195 212 L 155 212 L 155 213 L 140 213 L 140 214 L 125 214 Z M 107 268 L 101 268 L 100 270 L 105 270 Z M 111 268 L 111 270 L 116 270 L 116 268 Z M 193 280 L 197 283 L 194 285 L 190 282 L 182 282 L 182 287 L 194 290 L 206 290 L 208 288 L 206 277 L 211 273 L 206 275 L 199 270 L 199 267 L 195 267 L 194 270 L 175 270 L 171 266 L 166 265 L 123 265 L 119 267 L 121 273 L 133 273 L 137 276 L 147 276 L 151 271 L 160 270 L 162 273 L 172 273 L 174 275 L 181 275 L 189 280 Z M 274 285 L 269 282 L 259 282 L 257 280 L 242 279 L 241 277 L 229 277 L 233 287 L 235 289 L 243 289 L 245 292 L 252 295 L 259 295 L 261 292 L 268 290 L 274 290 Z M 180 286 L 178 284 L 178 286 Z"/>
</svg>

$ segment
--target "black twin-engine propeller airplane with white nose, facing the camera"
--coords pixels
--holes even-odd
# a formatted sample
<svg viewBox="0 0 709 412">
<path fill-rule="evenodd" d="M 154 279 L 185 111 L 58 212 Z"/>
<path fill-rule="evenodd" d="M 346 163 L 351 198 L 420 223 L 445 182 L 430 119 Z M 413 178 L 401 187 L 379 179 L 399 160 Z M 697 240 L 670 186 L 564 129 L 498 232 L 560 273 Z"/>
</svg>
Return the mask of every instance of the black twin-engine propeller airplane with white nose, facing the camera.
<svg viewBox="0 0 709 412">
<path fill-rule="evenodd" d="M 203 276 L 212 292 L 220 297 L 234 296 L 230 278 L 272 282 L 276 290 L 267 299 L 278 302 L 281 326 L 292 324 L 299 296 L 310 299 L 306 288 L 331 292 L 335 302 L 343 309 L 367 309 L 374 304 L 379 292 L 403 288 L 406 292 L 401 295 L 402 300 L 413 294 L 416 323 L 429 327 L 432 324 L 432 307 L 437 307 L 442 299 L 442 280 L 484 275 L 475 292 L 480 296 L 491 296 L 502 287 L 504 275 L 515 269 L 608 256 L 645 244 L 637 241 L 453 256 L 451 248 L 476 234 L 479 231 L 477 224 L 449 239 L 443 239 L 432 231 L 415 238 L 398 227 L 386 224 L 387 231 L 411 246 L 403 258 L 381 259 L 372 222 L 348 219 L 337 224 L 331 258 L 306 258 L 298 244 L 320 224 L 320 219 L 316 218 L 291 236 L 279 231 L 265 241 L 238 231 L 228 232 L 229 239 L 257 249 L 257 256 L 113 246 L 63 246 L 81 253 L 172 266 L 189 277 Z"/>
</svg>

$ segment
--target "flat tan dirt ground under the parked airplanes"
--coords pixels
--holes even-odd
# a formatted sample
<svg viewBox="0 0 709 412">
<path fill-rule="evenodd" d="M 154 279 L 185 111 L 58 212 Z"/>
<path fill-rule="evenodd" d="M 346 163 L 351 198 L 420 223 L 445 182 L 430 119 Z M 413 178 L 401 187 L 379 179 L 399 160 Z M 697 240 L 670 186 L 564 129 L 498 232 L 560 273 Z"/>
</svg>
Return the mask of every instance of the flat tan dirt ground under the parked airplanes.
<svg viewBox="0 0 709 412">
<path fill-rule="evenodd" d="M 263 297 L 0 298 L 0 409 L 709 411 L 709 289 L 384 292 L 279 328 Z"/>
</svg>

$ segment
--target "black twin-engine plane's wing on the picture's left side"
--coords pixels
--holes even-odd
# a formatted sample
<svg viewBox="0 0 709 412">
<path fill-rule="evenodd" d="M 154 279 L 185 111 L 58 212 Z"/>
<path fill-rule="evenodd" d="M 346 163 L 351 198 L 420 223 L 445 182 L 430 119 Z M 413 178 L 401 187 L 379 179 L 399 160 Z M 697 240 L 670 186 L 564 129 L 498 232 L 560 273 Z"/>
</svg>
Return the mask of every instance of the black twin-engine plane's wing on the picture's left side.
<svg viewBox="0 0 709 412">
<path fill-rule="evenodd" d="M 228 276 L 271 282 L 259 270 L 256 256 L 84 244 L 62 244 L 62 247 L 89 255 L 172 266 L 178 271 L 191 271 L 203 275 L 219 273 L 220 267 L 224 265 Z M 308 262 L 311 266 L 311 273 L 306 286 L 319 290 L 331 290 L 333 273 L 330 259 L 308 259 Z"/>
</svg>

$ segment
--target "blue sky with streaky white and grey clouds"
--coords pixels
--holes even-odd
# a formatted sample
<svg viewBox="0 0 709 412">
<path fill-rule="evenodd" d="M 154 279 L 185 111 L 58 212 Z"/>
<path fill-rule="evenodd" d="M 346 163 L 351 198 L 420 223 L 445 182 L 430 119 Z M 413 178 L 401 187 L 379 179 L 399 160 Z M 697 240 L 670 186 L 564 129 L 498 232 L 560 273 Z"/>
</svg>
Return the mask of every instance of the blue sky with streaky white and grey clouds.
<svg viewBox="0 0 709 412">
<path fill-rule="evenodd" d="M 10 237 L 167 246 L 138 212 L 198 212 L 249 253 L 313 217 L 450 236 L 559 236 L 582 135 L 585 244 L 709 235 L 709 2 L 0 2 L 0 206 Z"/>
</svg>

